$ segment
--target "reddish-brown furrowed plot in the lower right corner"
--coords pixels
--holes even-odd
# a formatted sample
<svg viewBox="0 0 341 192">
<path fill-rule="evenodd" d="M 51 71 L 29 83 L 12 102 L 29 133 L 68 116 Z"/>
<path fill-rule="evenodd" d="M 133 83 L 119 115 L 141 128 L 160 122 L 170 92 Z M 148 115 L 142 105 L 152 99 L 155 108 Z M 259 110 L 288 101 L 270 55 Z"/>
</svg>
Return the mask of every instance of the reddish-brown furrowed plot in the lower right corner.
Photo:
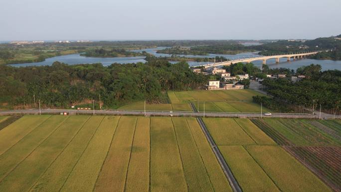
<svg viewBox="0 0 341 192">
<path fill-rule="evenodd" d="M 292 147 L 283 146 L 334 191 L 341 192 L 340 147 Z"/>
</svg>

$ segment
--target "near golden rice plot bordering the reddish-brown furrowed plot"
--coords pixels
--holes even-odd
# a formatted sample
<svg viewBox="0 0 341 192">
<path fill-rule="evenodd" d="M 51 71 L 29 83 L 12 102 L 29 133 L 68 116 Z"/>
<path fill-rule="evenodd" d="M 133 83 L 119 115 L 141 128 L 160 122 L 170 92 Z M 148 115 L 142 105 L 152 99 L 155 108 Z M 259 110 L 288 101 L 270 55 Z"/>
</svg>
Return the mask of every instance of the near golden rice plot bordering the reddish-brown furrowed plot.
<svg viewBox="0 0 341 192">
<path fill-rule="evenodd" d="M 332 191 L 279 146 L 246 146 L 245 148 L 281 191 Z"/>
</svg>

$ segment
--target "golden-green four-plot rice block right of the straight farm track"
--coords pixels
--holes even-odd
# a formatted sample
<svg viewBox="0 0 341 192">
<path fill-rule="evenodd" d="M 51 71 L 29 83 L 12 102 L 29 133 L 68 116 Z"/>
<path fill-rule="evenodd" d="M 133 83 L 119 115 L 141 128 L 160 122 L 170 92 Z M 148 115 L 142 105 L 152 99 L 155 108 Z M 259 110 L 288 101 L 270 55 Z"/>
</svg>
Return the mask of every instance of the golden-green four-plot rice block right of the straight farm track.
<svg viewBox="0 0 341 192">
<path fill-rule="evenodd" d="M 203 121 L 244 192 L 331 191 L 249 119 Z"/>
</svg>

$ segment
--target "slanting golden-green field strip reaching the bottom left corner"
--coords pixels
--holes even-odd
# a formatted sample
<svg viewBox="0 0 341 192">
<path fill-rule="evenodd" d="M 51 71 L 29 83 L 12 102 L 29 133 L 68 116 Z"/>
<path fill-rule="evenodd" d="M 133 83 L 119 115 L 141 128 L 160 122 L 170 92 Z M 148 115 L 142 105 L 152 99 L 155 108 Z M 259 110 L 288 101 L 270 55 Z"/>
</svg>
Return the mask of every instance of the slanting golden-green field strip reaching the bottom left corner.
<svg viewBox="0 0 341 192">
<path fill-rule="evenodd" d="M 24 116 L 23 118 L 29 119 L 30 116 Z M 49 165 L 73 140 L 88 119 L 89 116 L 72 116 L 64 121 L 53 134 L 0 181 L 0 189 L 4 192 L 29 190 Z M 54 172 L 53 174 L 56 173 Z"/>
</svg>

